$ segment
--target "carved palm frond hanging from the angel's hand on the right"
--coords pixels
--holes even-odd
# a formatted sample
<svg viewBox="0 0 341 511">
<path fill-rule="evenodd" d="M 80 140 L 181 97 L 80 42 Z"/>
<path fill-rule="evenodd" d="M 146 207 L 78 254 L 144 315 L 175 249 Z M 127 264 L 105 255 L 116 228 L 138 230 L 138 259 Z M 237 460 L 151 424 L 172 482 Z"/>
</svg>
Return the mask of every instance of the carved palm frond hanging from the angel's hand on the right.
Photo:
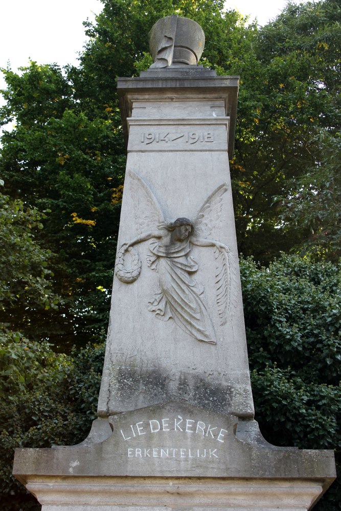
<svg viewBox="0 0 341 511">
<path fill-rule="evenodd" d="M 220 324 L 226 323 L 232 310 L 236 307 L 235 294 L 231 291 L 236 283 L 236 271 L 232 261 L 231 253 L 219 248 L 214 249 L 216 259 L 215 285 L 217 308 Z"/>
</svg>

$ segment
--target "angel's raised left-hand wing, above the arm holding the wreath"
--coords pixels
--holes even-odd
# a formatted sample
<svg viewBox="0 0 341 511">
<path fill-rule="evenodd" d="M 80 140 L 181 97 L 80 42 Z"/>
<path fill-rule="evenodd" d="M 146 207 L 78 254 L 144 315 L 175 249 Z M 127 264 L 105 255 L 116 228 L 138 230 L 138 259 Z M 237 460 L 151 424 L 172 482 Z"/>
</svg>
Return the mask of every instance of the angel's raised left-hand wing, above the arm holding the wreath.
<svg viewBox="0 0 341 511">
<path fill-rule="evenodd" d="M 135 225 L 139 234 L 146 230 L 155 228 L 157 225 L 164 222 L 164 215 L 160 204 L 153 192 L 148 187 L 146 181 L 132 170 L 129 171 L 131 192 L 135 195 L 134 208 L 135 208 Z M 141 215 L 141 210 L 138 207 L 140 200 L 143 201 L 142 208 L 145 212 Z"/>
</svg>

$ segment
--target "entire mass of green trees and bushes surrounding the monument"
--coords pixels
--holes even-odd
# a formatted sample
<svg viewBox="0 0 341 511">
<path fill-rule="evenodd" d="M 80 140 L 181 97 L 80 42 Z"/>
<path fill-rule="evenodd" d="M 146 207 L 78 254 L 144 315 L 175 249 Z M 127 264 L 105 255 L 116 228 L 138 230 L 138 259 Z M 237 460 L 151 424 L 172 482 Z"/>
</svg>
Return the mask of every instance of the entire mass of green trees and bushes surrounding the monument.
<svg viewBox="0 0 341 511">
<path fill-rule="evenodd" d="M 260 29 L 221 0 L 102 3 L 85 23 L 78 68 L 3 70 L 0 124 L 14 123 L 0 156 L 6 511 L 35 505 L 11 482 L 13 448 L 76 443 L 95 415 L 103 346 L 87 342 L 106 328 L 125 168 L 116 78 L 149 66 L 147 34 L 173 13 L 202 26 L 204 66 L 241 76 L 231 161 L 238 245 L 268 265 L 241 262 L 261 429 L 274 444 L 339 452 L 339 2 L 288 4 Z M 269 264 L 291 249 L 316 261 Z M 69 354 L 86 347 L 57 355 L 47 340 Z M 316 510 L 339 509 L 339 494 L 334 484 Z"/>
</svg>

